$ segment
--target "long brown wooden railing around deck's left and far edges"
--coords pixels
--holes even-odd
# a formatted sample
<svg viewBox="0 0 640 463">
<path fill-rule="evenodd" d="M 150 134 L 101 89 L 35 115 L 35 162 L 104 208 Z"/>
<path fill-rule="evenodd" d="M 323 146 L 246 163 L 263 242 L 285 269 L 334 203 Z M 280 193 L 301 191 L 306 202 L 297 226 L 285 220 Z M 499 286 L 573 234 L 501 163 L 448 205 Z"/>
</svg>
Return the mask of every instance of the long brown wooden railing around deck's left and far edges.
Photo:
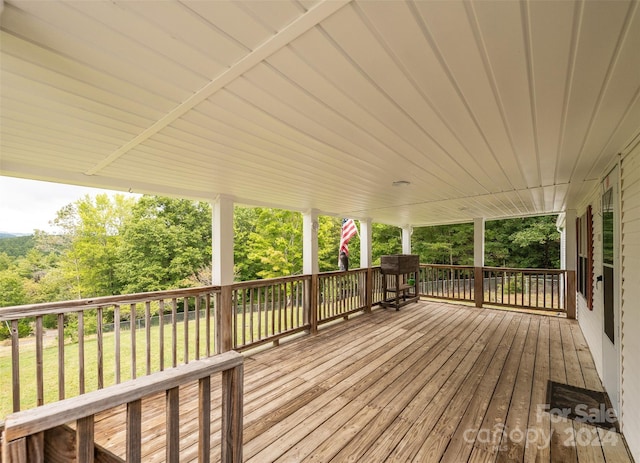
<svg viewBox="0 0 640 463">
<path fill-rule="evenodd" d="M 566 310 L 571 316 L 567 294 L 575 292 L 572 282 L 561 270 L 421 265 L 416 283 L 421 296 Z M 315 333 L 323 323 L 370 311 L 382 301 L 382 286 L 380 268 L 374 267 L 0 308 L 0 323 L 12 327 L 10 367 L 7 357 L 0 357 L 0 373 L 5 371 L 0 389 L 11 404 L 0 407 L 0 419 L 11 410 L 100 390 L 230 349 Z M 35 336 L 26 340 L 18 336 L 24 318 L 35 327 Z"/>
</svg>

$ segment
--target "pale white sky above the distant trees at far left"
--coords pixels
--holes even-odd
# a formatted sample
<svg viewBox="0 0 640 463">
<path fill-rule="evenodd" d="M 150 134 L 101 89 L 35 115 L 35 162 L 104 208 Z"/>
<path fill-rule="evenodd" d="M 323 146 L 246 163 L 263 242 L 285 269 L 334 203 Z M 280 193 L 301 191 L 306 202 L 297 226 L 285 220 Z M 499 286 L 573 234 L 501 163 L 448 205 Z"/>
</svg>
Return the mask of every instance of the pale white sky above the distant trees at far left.
<svg viewBox="0 0 640 463">
<path fill-rule="evenodd" d="M 69 203 L 99 193 L 116 193 L 97 188 L 24 180 L 0 176 L 0 232 L 32 233 L 54 231 L 49 221 Z M 121 192 L 118 192 L 121 193 Z"/>
</svg>

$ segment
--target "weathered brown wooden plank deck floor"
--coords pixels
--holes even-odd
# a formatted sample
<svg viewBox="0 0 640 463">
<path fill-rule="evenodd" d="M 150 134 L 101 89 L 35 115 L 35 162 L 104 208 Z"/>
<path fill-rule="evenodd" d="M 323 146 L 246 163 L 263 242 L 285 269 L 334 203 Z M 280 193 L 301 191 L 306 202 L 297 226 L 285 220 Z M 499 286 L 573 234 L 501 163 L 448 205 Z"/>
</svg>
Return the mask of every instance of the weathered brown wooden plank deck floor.
<svg viewBox="0 0 640 463">
<path fill-rule="evenodd" d="M 244 459 L 631 461 L 619 434 L 542 411 L 549 380 L 602 390 L 575 321 L 431 302 L 374 310 L 247 353 Z M 181 461 L 197 457 L 196 393 L 181 390 Z M 143 410 L 143 461 L 163 461 L 164 398 Z M 96 422 L 98 443 L 119 455 L 123 414 Z"/>
</svg>

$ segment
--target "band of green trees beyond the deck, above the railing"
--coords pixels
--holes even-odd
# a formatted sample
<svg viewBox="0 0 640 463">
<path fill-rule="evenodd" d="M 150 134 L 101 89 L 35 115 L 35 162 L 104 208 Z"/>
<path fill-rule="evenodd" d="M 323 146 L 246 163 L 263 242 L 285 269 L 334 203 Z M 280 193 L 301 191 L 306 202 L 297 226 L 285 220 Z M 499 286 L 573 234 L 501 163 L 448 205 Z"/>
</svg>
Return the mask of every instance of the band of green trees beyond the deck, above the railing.
<svg viewBox="0 0 640 463">
<path fill-rule="evenodd" d="M 318 218 L 322 272 L 338 269 L 341 219 Z M 61 209 L 53 223 L 60 233 L 36 230 L 32 238 L 22 237 L 25 242 L 29 238 L 31 245 L 20 251 L 19 257 L 0 252 L 0 280 L 13 285 L 3 291 L 5 305 L 211 282 L 208 203 L 152 196 L 86 196 Z M 236 206 L 234 231 L 236 280 L 302 273 L 300 213 Z M 421 262 L 472 265 L 473 224 L 415 228 L 412 247 Z M 349 251 L 350 268 L 359 267 L 359 236 L 351 239 Z M 382 255 L 401 252 L 401 229 L 372 224 L 374 265 L 380 263 Z M 558 267 L 555 217 L 487 222 L 485 254 L 488 266 Z M 10 281 L 7 275 L 11 276 Z M 106 312 L 105 317 L 111 316 Z M 69 323 L 73 323 L 72 318 Z M 56 323 L 53 319 L 49 324 Z M 88 329 L 87 322 L 85 328 Z"/>
</svg>

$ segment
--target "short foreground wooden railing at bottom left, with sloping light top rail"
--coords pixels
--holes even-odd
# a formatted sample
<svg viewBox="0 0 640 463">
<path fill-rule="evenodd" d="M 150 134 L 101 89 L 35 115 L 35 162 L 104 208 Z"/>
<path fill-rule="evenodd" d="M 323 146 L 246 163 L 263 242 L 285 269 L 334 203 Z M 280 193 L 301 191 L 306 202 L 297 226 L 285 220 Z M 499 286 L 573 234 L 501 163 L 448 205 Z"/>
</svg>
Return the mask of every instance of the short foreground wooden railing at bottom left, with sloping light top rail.
<svg viewBox="0 0 640 463">
<path fill-rule="evenodd" d="M 92 462 L 97 452 L 94 443 L 94 417 L 105 410 L 126 405 L 126 460 L 100 449 L 99 461 L 140 462 L 142 441 L 147 434 L 162 434 L 162 429 L 143 430 L 143 399 L 158 393 L 166 396 L 165 455 L 167 462 L 180 458 L 179 387 L 198 382 L 198 459 L 211 461 L 211 376 L 222 374 L 221 461 L 242 462 L 243 357 L 226 352 L 208 359 L 136 381 L 110 386 L 80 397 L 47 404 L 9 415 L 3 435 L 5 463 L 52 461 L 53 455 L 69 454 L 69 461 Z M 189 421 L 195 419 L 190 417 Z M 75 422 L 75 430 L 66 427 Z M 70 451 L 61 433 L 71 433 L 75 449 Z M 146 433 L 146 434 L 145 434 Z"/>
</svg>

